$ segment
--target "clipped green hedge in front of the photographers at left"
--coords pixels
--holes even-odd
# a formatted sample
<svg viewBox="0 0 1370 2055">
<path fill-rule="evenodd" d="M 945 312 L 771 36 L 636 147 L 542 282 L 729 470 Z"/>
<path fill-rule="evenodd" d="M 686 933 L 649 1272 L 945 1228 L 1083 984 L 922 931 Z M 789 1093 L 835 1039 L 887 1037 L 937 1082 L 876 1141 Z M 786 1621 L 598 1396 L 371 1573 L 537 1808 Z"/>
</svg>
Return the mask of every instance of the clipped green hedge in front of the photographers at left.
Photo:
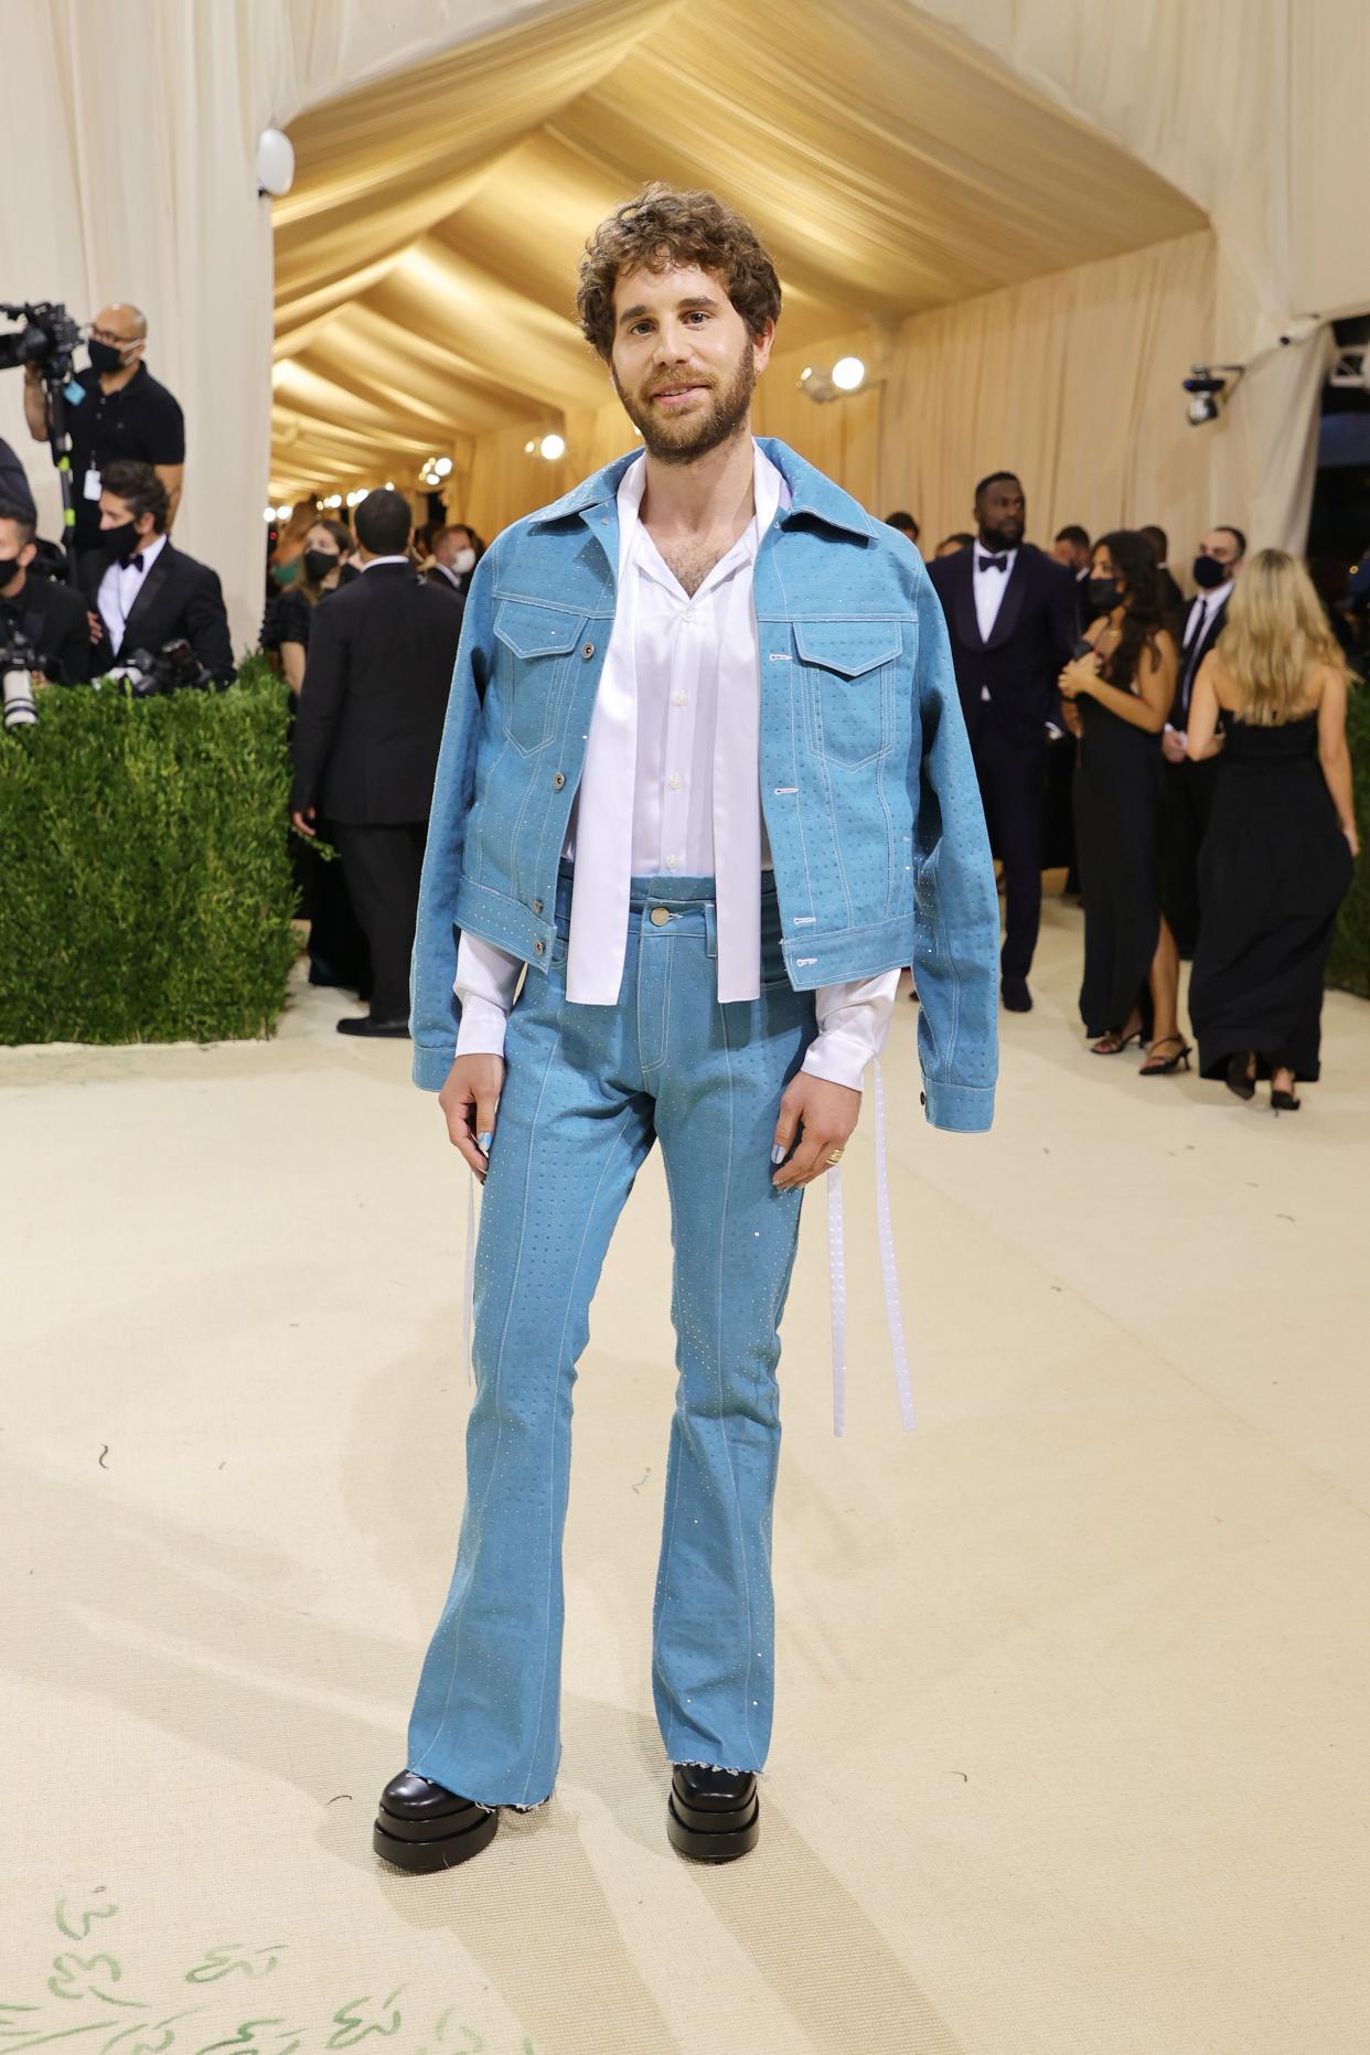
<svg viewBox="0 0 1370 2055">
<path fill-rule="evenodd" d="M 271 1034 L 296 954 L 288 693 L 49 686 L 0 732 L 0 1042 Z"/>
</svg>

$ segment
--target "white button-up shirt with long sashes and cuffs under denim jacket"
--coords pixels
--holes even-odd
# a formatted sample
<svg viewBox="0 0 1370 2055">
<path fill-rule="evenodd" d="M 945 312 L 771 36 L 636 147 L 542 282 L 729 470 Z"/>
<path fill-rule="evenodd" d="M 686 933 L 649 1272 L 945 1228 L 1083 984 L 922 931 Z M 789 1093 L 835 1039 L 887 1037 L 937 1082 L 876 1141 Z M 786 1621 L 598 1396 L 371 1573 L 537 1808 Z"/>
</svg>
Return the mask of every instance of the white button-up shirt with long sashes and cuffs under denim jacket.
<svg viewBox="0 0 1370 2055">
<path fill-rule="evenodd" d="M 629 880 L 717 880 L 719 1001 L 760 993 L 760 875 L 770 849 L 760 804 L 760 647 L 754 569 L 785 479 L 756 448 L 754 516 L 688 594 L 639 514 L 647 462 L 618 487 L 618 606 L 567 824 L 575 863 L 567 999 L 616 1005 L 629 931 Z M 583 806 L 581 806 L 583 801 Z M 462 935 L 456 1054 L 501 1054 L 522 962 Z M 815 997 L 805 1071 L 859 1089 L 883 1048 L 898 970 Z"/>
</svg>

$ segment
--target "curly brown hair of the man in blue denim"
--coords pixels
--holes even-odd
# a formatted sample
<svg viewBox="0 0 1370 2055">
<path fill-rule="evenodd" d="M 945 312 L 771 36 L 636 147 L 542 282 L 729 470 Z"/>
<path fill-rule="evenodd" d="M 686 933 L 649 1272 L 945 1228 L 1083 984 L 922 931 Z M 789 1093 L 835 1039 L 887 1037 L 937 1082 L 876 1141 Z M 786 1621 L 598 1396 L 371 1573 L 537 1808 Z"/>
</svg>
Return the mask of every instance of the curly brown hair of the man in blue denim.
<svg viewBox="0 0 1370 2055">
<path fill-rule="evenodd" d="M 600 222 L 581 257 L 575 312 L 606 364 L 614 351 L 614 286 L 620 271 L 639 265 L 657 273 L 674 265 L 713 271 L 750 335 L 781 319 L 781 279 L 752 224 L 715 193 L 682 193 L 653 179 Z"/>
</svg>

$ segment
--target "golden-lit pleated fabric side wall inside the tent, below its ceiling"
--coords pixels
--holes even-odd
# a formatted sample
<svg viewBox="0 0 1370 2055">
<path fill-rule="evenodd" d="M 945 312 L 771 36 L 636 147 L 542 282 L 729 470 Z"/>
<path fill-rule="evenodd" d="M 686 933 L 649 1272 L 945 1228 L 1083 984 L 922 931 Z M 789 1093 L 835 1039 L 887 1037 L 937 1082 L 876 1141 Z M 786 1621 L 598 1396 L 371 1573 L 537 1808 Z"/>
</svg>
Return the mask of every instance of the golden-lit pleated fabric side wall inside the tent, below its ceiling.
<svg viewBox="0 0 1370 2055">
<path fill-rule="evenodd" d="M 1239 518 L 1179 384 L 1212 333 L 1214 275 L 1204 232 L 914 314 L 893 335 L 857 329 L 822 351 L 776 347 L 754 421 L 873 514 L 914 512 L 928 549 L 969 524 L 978 477 L 1011 469 L 1027 485 L 1035 538 L 1068 520 L 1091 534 L 1158 522 L 1187 559 L 1210 522 Z M 805 399 L 805 362 L 844 351 L 871 366 L 871 388 Z M 569 423 L 559 464 L 524 454 L 526 440 L 477 440 L 466 508 L 485 534 L 637 442 L 616 401 Z"/>
</svg>

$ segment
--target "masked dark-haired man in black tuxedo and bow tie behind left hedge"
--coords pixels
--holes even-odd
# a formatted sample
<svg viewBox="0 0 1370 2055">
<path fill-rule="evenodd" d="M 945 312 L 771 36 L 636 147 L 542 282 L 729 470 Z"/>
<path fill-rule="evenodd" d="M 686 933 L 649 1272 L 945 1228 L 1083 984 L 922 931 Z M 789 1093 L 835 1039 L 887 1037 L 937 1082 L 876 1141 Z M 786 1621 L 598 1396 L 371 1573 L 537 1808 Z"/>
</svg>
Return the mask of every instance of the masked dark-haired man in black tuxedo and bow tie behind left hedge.
<svg viewBox="0 0 1370 2055">
<path fill-rule="evenodd" d="M 101 479 L 101 547 L 80 559 L 97 676 L 146 649 L 187 641 L 212 678 L 232 678 L 232 637 L 218 571 L 175 549 L 168 495 L 152 464 L 131 456 Z"/>
</svg>

